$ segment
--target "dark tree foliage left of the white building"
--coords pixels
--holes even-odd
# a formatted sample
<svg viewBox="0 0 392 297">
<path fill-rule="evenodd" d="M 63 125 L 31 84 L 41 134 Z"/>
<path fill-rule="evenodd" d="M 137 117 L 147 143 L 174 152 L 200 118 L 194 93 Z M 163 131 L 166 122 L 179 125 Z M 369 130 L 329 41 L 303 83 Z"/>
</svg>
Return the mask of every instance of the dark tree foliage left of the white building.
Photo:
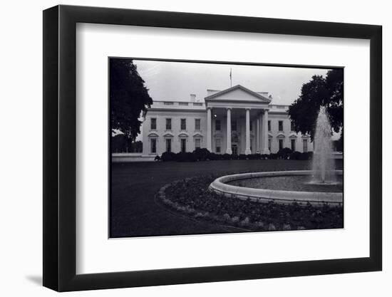
<svg viewBox="0 0 392 297">
<path fill-rule="evenodd" d="M 111 129 L 120 130 L 130 140 L 140 133 L 140 115 L 153 104 L 145 81 L 130 59 L 110 59 Z"/>
</svg>

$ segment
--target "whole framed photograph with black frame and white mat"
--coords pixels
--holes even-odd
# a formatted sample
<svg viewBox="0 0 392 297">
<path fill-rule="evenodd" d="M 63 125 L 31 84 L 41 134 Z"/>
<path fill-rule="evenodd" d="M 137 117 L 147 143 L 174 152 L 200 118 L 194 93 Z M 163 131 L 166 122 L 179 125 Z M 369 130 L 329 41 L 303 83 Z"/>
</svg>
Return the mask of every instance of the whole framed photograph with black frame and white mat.
<svg viewBox="0 0 392 297">
<path fill-rule="evenodd" d="M 381 26 L 43 11 L 43 286 L 379 271 Z"/>
</svg>

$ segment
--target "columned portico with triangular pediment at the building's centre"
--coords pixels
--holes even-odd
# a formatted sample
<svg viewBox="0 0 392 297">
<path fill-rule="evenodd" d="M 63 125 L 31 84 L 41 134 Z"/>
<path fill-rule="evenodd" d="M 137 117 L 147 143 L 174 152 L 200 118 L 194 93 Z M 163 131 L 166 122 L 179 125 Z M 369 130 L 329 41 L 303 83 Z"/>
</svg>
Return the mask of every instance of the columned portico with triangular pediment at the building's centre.
<svg viewBox="0 0 392 297">
<path fill-rule="evenodd" d="M 242 85 L 210 92 L 212 94 L 205 98 L 207 150 L 221 150 L 222 140 L 225 139 L 227 154 L 269 154 L 268 105 L 271 100 Z M 225 126 L 225 130 L 222 126 Z M 215 149 L 212 147 L 214 143 Z"/>
</svg>

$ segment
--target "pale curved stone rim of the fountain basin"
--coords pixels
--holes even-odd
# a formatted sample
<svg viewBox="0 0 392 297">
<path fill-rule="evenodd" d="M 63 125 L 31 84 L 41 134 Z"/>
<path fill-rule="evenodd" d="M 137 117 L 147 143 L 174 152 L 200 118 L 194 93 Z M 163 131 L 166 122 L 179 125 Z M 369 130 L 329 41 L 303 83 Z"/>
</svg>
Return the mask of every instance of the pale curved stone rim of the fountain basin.
<svg viewBox="0 0 392 297">
<path fill-rule="evenodd" d="M 336 175 L 342 176 L 342 170 L 335 170 Z M 242 187 L 239 185 L 229 184 L 246 179 L 267 178 L 267 177 L 296 177 L 296 176 L 310 176 L 313 174 L 312 170 L 297 170 L 297 171 L 277 171 L 277 172 L 251 172 L 242 174 L 225 175 L 215 179 L 210 184 L 211 191 L 222 194 L 225 197 L 232 197 L 237 199 L 250 199 L 254 202 L 275 202 L 278 204 L 292 204 L 297 202 L 299 204 L 307 204 L 308 202 L 314 206 L 322 206 L 324 204 L 339 205 L 343 204 L 343 192 L 305 192 L 295 190 L 282 189 L 260 189 L 255 187 Z M 326 186 L 329 187 L 329 186 Z"/>
</svg>

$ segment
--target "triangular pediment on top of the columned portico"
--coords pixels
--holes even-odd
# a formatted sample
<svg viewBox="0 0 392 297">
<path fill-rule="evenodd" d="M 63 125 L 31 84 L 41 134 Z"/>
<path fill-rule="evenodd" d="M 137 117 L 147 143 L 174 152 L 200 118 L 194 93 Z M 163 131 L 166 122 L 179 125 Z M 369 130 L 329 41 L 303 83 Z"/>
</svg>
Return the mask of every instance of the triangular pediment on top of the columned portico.
<svg viewBox="0 0 392 297">
<path fill-rule="evenodd" d="M 226 90 L 221 90 L 215 94 L 207 96 L 205 100 L 213 100 L 213 101 L 247 101 L 247 102 L 257 102 L 257 103 L 270 103 L 271 100 L 269 98 L 264 97 L 263 95 L 253 92 L 242 85 L 235 85 L 232 88 L 228 88 Z"/>
</svg>

